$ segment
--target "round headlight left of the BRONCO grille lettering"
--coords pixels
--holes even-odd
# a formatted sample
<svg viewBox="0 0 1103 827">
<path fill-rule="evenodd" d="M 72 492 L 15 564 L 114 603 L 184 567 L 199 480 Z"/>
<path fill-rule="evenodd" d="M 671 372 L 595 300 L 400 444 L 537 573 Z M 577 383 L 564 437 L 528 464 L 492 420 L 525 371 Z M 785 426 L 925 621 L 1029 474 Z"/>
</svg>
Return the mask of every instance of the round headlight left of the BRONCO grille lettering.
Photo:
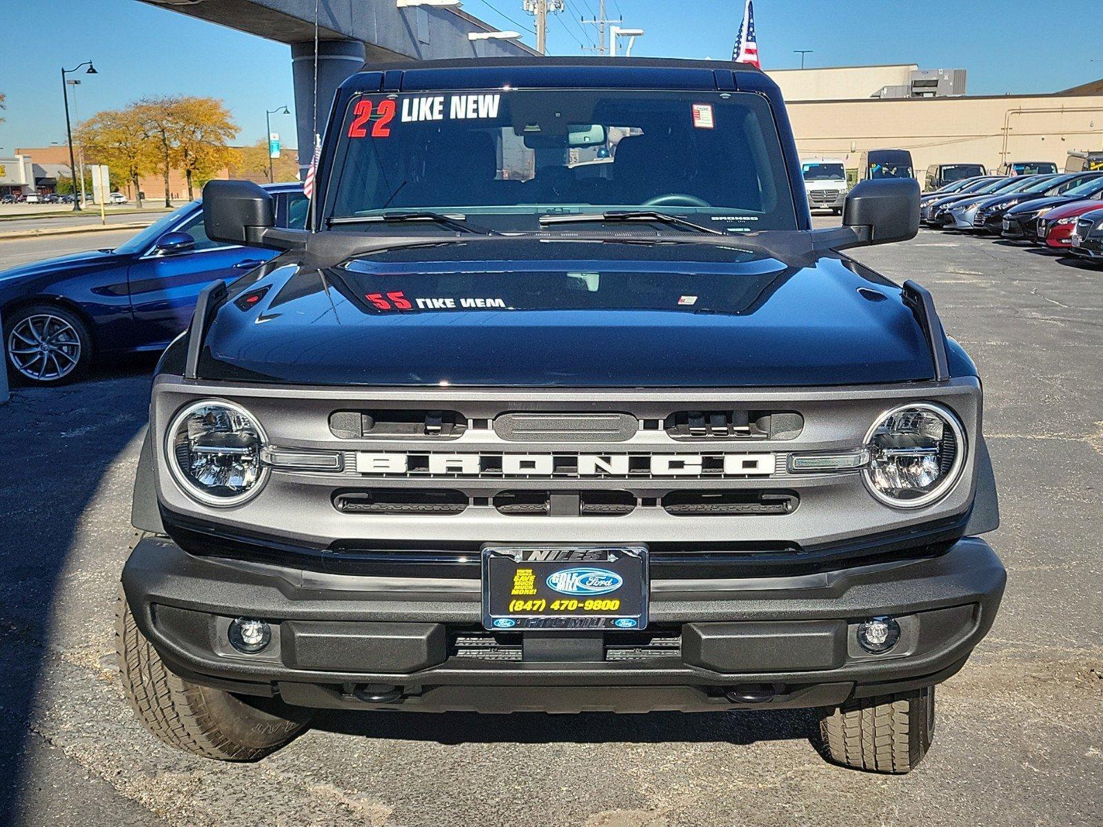
<svg viewBox="0 0 1103 827">
<path fill-rule="evenodd" d="M 242 406 L 192 402 L 176 414 L 165 441 L 172 475 L 201 503 L 239 505 L 260 491 L 265 432 Z"/>
</svg>

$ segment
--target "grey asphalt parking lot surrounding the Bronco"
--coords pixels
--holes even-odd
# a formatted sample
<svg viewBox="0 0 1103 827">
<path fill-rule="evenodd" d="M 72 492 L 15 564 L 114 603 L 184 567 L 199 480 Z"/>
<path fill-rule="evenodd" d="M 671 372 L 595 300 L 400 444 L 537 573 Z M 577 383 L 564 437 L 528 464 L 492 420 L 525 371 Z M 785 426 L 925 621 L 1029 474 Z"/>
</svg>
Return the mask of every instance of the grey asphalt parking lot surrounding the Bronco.
<svg viewBox="0 0 1103 827">
<path fill-rule="evenodd" d="M 0 246 L 0 267 L 32 250 Z M 111 619 L 146 362 L 0 407 L 0 783 L 14 796 L 0 814 L 84 827 L 1101 824 L 1103 270 L 933 232 L 856 258 L 930 288 L 981 367 L 1003 511 L 989 539 L 1009 570 L 910 775 L 825 763 L 807 711 L 331 713 L 253 765 L 163 747 L 122 701 Z"/>
</svg>

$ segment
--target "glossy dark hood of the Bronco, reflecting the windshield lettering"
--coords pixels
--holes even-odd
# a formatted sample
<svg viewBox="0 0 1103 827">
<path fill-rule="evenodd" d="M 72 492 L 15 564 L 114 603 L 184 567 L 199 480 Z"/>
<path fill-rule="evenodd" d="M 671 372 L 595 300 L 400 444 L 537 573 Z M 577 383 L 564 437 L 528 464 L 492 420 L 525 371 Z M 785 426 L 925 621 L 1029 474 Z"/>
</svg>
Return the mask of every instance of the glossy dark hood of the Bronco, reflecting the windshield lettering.
<svg viewBox="0 0 1103 827">
<path fill-rule="evenodd" d="M 732 245 L 738 241 L 732 241 Z M 475 238 L 236 286 L 201 375 L 320 385 L 794 386 L 932 378 L 900 290 L 835 254 Z"/>
</svg>

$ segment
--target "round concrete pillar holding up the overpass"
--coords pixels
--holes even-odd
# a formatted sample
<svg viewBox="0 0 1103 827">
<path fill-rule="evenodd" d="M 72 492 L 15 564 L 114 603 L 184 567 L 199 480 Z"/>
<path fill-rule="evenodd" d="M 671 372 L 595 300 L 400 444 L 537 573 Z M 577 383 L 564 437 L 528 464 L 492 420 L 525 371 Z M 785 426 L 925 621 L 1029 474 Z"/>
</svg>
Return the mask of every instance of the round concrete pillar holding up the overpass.
<svg viewBox="0 0 1103 827">
<path fill-rule="evenodd" d="M 318 131 L 325 131 L 333 96 L 341 83 L 364 65 L 364 44 L 355 40 L 318 43 Z M 299 138 L 299 178 L 304 178 L 314 151 L 314 42 L 291 44 L 295 115 Z"/>
</svg>

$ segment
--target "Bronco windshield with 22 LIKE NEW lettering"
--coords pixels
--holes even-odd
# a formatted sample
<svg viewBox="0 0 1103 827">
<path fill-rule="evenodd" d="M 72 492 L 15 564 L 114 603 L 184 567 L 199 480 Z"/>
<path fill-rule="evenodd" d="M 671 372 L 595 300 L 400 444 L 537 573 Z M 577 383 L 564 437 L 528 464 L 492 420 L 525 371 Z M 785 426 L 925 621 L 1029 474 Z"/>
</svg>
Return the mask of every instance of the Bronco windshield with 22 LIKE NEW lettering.
<svg viewBox="0 0 1103 827">
<path fill-rule="evenodd" d="M 362 95 L 332 169 L 324 215 L 341 228 L 431 211 L 535 230 L 540 216 L 641 207 L 727 232 L 796 228 L 773 115 L 750 93 Z"/>
</svg>

